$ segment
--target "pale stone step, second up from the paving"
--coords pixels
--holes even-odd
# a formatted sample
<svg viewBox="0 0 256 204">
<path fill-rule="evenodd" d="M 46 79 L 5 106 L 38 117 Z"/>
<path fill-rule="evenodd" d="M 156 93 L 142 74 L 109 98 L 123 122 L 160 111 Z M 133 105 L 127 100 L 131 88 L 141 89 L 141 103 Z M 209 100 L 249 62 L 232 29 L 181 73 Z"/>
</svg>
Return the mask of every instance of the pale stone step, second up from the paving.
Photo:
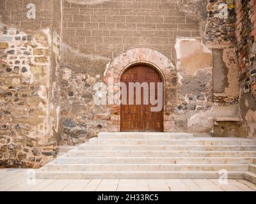
<svg viewBox="0 0 256 204">
<path fill-rule="evenodd" d="M 248 171 L 248 164 L 47 164 L 44 171 Z"/>
</svg>

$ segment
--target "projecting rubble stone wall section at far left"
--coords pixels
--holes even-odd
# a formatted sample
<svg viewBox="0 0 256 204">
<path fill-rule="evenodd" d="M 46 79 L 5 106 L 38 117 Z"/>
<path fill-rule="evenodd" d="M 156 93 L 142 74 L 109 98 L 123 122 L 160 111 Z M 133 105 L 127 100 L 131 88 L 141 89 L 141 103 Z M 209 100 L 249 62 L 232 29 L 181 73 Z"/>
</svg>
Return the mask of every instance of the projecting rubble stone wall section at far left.
<svg viewBox="0 0 256 204">
<path fill-rule="evenodd" d="M 36 18 L 26 7 L 35 3 Z M 0 167 L 54 157 L 51 123 L 52 1 L 0 2 Z"/>
</svg>

